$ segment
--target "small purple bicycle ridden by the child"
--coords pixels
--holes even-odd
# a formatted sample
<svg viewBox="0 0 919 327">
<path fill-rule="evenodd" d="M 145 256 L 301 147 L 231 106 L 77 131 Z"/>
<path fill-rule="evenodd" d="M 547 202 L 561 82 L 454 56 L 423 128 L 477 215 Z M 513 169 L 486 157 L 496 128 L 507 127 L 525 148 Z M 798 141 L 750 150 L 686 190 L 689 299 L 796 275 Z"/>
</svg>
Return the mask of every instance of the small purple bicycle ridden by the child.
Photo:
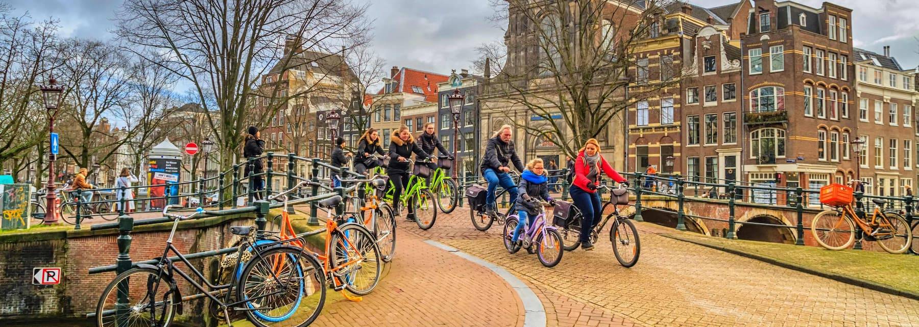
<svg viewBox="0 0 919 327">
<path fill-rule="evenodd" d="M 539 214 L 532 225 L 528 223 L 523 230 L 523 234 L 519 235 L 519 244 L 512 240 L 514 230 L 518 223 L 526 222 L 520 222 L 520 217 L 516 214 L 508 216 L 504 231 L 505 248 L 507 252 L 514 254 L 521 247 L 526 247 L 529 254 L 534 254 L 535 252 L 542 266 L 555 267 L 562 262 L 564 251 L 562 251 L 562 234 L 554 226 L 546 222 L 545 207 L 550 204 L 549 202 L 541 202 L 532 198 L 528 202 L 535 203 L 539 207 Z M 536 251 L 531 249 L 532 245 L 536 245 Z"/>
</svg>

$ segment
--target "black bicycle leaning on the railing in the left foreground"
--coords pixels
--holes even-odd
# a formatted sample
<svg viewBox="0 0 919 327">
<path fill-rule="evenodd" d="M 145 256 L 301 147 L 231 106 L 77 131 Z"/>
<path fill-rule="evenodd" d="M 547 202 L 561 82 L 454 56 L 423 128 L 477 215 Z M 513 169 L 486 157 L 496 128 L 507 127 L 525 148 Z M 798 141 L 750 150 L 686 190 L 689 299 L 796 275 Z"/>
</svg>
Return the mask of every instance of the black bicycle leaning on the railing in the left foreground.
<svg viewBox="0 0 919 327">
<path fill-rule="evenodd" d="M 182 314 L 183 301 L 205 297 L 220 308 L 227 325 L 232 325 L 230 309 L 244 311 L 255 326 L 270 326 L 275 322 L 306 326 L 319 316 L 325 302 L 325 280 L 319 275 L 322 267 L 314 257 L 306 256 L 300 247 L 289 245 L 290 240 L 260 244 L 253 234 L 257 226 L 233 226 L 230 232 L 244 237 L 235 262 L 236 267 L 242 266 L 243 272 L 239 276 L 233 274 L 228 284 L 213 285 L 173 245 L 178 223 L 205 213 L 204 210 L 199 208 L 183 216 L 168 213 L 172 207 L 177 206 L 167 205 L 163 209 L 165 217 L 173 218 L 163 256 L 156 265 L 137 265 L 108 284 L 96 305 L 97 326 L 169 326 L 176 319 L 176 311 Z M 170 252 L 205 285 L 176 267 Z M 243 260 L 244 253 L 250 253 L 251 259 Z M 176 286 L 176 273 L 200 293 L 183 297 Z M 291 319 L 296 323 L 289 322 Z"/>
</svg>

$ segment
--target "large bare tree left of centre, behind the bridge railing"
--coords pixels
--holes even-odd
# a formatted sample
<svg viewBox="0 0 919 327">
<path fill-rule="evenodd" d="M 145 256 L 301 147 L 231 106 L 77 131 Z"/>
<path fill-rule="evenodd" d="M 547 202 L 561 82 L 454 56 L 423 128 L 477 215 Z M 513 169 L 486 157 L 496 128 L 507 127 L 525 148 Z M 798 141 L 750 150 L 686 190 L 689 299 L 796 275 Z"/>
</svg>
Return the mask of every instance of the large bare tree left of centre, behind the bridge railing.
<svg viewBox="0 0 919 327">
<path fill-rule="evenodd" d="M 239 153 L 254 98 L 280 98 L 280 88 L 255 92 L 262 74 L 283 57 L 278 44 L 293 38 L 303 49 L 335 53 L 330 49 L 367 29 L 363 14 L 364 7 L 341 0 L 127 0 L 116 34 L 139 55 L 165 53 L 165 60 L 151 61 L 191 83 L 205 113 L 219 115 L 208 122 L 227 169 Z"/>
</svg>

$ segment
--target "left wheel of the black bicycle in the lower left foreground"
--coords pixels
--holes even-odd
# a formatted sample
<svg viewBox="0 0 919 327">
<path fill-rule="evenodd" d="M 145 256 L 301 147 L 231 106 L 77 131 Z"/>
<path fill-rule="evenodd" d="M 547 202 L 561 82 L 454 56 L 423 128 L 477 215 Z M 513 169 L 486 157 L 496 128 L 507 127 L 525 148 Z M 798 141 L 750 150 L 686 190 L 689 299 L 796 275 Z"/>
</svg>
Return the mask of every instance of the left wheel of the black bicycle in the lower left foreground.
<svg viewBox="0 0 919 327">
<path fill-rule="evenodd" d="M 96 304 L 96 326 L 168 326 L 182 301 L 170 284 L 168 277 L 153 268 L 132 268 L 119 274 Z"/>
</svg>

